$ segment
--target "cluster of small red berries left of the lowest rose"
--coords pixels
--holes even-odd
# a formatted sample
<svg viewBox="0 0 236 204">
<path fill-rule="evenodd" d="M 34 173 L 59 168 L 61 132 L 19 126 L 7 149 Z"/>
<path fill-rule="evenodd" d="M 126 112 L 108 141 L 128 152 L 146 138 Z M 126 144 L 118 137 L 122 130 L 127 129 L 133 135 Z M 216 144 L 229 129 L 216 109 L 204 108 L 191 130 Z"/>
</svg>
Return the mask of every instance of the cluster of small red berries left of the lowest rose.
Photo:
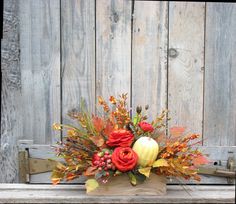
<svg viewBox="0 0 236 204">
<path fill-rule="evenodd" d="M 108 170 L 115 170 L 115 166 L 111 161 L 111 153 L 109 151 L 100 152 L 93 157 L 93 165 L 99 171 L 106 171 L 106 176 L 109 176 Z"/>
</svg>

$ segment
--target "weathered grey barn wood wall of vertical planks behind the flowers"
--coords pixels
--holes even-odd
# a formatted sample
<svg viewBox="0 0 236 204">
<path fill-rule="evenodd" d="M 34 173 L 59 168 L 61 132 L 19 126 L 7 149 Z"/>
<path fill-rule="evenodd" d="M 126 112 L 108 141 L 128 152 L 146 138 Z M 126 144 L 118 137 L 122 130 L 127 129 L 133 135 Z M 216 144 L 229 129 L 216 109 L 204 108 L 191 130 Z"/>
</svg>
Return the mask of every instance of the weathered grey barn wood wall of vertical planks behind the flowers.
<svg viewBox="0 0 236 204">
<path fill-rule="evenodd" d="M 236 4 L 5 0 L 0 182 L 17 182 L 17 141 L 52 144 L 81 97 L 127 92 L 170 110 L 169 126 L 236 146 Z M 215 152 L 216 154 L 216 152 Z"/>
</svg>

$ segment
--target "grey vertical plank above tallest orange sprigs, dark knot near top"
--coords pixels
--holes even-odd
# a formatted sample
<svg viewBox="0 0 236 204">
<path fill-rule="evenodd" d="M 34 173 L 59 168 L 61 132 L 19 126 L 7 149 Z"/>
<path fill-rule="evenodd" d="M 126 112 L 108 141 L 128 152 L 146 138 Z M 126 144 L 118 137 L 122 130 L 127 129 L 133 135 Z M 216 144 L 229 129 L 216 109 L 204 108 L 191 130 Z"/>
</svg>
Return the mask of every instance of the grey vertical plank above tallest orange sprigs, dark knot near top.
<svg viewBox="0 0 236 204">
<path fill-rule="evenodd" d="M 96 1 L 96 95 L 105 99 L 121 93 L 130 96 L 131 3 Z"/>
</svg>

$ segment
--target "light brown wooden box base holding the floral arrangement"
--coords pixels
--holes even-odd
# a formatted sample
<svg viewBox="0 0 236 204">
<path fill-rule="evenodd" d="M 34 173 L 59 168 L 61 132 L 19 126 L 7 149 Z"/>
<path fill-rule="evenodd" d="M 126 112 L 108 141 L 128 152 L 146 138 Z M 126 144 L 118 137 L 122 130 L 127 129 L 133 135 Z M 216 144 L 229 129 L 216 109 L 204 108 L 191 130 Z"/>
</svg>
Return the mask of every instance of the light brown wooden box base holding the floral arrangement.
<svg viewBox="0 0 236 204">
<path fill-rule="evenodd" d="M 165 195 L 166 178 L 151 174 L 143 183 L 132 186 L 126 174 L 109 179 L 88 195 Z"/>
</svg>

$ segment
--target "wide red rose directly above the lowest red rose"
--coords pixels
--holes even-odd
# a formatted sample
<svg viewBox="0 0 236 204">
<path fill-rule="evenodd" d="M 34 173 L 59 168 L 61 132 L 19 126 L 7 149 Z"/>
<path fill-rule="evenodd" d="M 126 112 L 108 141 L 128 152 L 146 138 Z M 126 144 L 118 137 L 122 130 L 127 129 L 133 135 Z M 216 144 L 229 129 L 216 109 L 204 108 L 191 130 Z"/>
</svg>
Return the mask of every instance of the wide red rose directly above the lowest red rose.
<svg viewBox="0 0 236 204">
<path fill-rule="evenodd" d="M 110 147 L 129 147 L 134 140 L 134 135 L 125 129 L 113 131 L 106 142 Z"/>
</svg>

